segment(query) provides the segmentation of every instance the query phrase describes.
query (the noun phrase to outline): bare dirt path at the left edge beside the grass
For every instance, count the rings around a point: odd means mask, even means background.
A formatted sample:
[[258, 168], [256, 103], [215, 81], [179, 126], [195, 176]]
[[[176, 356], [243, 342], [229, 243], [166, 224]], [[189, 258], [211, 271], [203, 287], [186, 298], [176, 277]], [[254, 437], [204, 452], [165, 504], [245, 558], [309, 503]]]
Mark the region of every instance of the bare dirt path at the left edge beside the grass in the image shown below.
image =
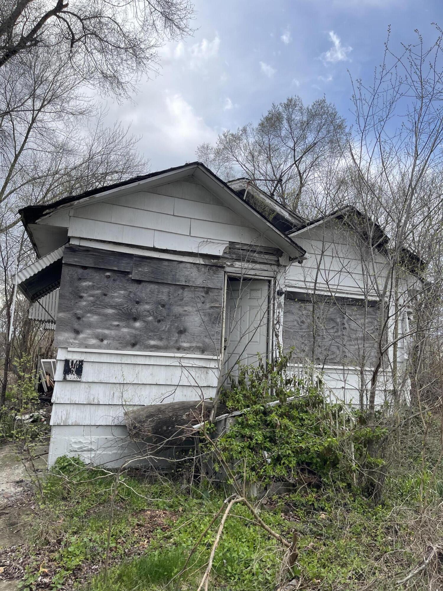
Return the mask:
[[[48, 465], [48, 445], [33, 450], [34, 466], [43, 473]], [[29, 454], [14, 444], [0, 447], [0, 549], [21, 544], [32, 517], [32, 483]], [[17, 582], [2, 580], [6, 564], [0, 562], [0, 591], [15, 591]]]

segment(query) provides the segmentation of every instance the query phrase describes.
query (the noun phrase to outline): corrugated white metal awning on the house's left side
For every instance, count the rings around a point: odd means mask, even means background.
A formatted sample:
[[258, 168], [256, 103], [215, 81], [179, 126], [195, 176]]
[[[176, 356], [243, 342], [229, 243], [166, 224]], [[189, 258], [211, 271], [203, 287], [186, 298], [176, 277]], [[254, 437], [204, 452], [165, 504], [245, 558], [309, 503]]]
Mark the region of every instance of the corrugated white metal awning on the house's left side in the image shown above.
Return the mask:
[[35, 301], [60, 287], [64, 245], [48, 252], [17, 274], [17, 287], [30, 301]]

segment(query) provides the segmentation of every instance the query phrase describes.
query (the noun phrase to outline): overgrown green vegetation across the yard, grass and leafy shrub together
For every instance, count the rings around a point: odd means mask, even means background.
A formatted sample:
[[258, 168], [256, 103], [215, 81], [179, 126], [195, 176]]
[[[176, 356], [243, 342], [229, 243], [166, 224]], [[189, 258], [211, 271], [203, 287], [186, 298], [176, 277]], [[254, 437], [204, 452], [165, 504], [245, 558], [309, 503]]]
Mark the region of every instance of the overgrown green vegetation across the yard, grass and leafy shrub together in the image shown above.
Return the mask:
[[[368, 444], [384, 431], [325, 402], [313, 384], [288, 375], [287, 362], [242, 368], [223, 393], [229, 409], [243, 414], [219, 439], [215, 426], [207, 430], [201, 462], [214, 454], [224, 483], [204, 471], [196, 479], [182, 468], [173, 480], [58, 459], [9, 576], [24, 572], [28, 591], [196, 591], [213, 553], [207, 589], [286, 591], [289, 580], [312, 591], [436, 589], [443, 580], [441, 424], [411, 417], [389, 439], [383, 497], [374, 501], [360, 476]], [[291, 539], [298, 556], [288, 568], [281, 542]]]

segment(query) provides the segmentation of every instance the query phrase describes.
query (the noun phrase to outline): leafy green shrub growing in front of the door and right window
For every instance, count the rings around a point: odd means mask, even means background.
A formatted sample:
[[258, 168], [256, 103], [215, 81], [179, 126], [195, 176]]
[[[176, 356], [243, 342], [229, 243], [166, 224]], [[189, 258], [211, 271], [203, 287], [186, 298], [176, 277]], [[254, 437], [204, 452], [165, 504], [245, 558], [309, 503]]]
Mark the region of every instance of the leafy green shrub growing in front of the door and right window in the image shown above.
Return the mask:
[[231, 379], [220, 398], [230, 411], [243, 413], [214, 440], [219, 459], [247, 482], [262, 483], [292, 481], [301, 472], [350, 483], [361, 457], [380, 466], [367, 450], [385, 430], [368, 427], [357, 411], [325, 402], [321, 387], [288, 373], [290, 358], [242, 366], [238, 379]]

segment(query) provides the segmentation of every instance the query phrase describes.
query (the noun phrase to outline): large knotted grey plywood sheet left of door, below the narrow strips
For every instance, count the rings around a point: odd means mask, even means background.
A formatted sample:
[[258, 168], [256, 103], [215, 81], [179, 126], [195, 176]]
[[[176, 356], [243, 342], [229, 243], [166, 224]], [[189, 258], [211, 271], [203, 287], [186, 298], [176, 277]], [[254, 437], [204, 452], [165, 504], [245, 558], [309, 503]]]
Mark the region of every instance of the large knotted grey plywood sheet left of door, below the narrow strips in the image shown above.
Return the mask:
[[64, 264], [55, 345], [217, 355], [223, 290]]

